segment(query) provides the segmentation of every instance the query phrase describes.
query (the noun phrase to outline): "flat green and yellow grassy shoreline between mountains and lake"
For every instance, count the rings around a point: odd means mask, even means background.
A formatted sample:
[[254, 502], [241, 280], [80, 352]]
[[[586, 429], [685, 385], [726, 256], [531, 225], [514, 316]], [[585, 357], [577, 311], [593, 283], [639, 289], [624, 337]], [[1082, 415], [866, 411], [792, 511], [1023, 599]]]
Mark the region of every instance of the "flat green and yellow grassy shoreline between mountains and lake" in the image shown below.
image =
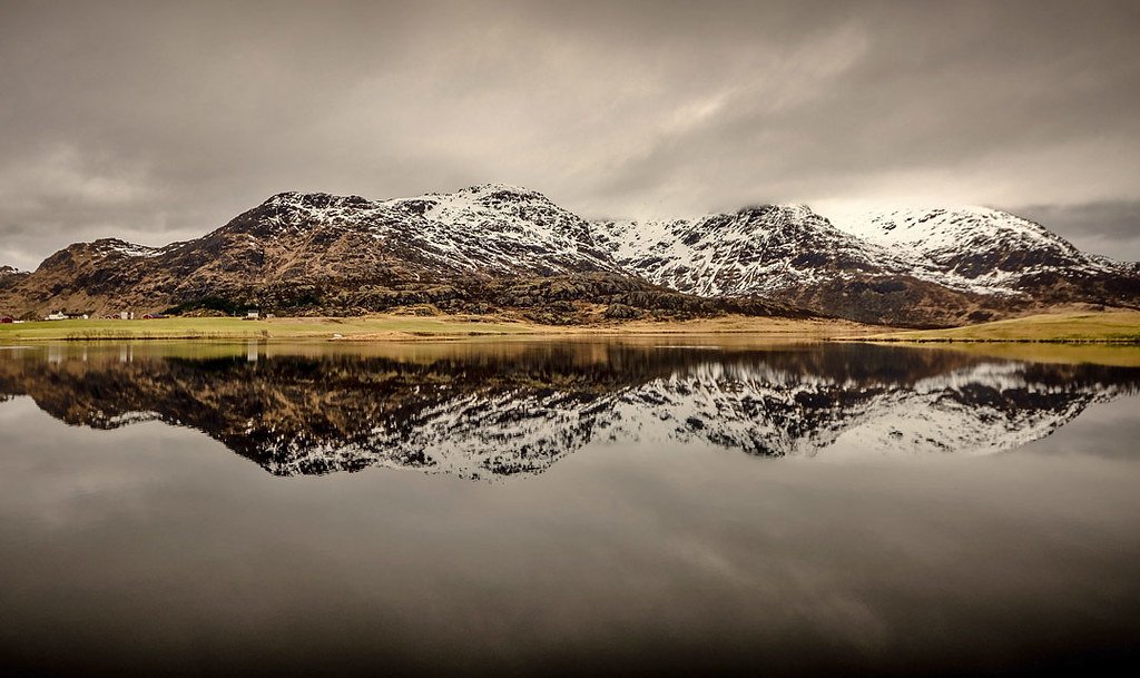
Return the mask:
[[312, 340], [343, 342], [470, 337], [735, 335], [756, 340], [899, 344], [1140, 345], [1140, 311], [1064, 312], [967, 327], [901, 330], [846, 320], [726, 316], [682, 321], [632, 320], [549, 326], [507, 317], [375, 315], [359, 318], [165, 318], [56, 320], [0, 325], [0, 344], [43, 341]]

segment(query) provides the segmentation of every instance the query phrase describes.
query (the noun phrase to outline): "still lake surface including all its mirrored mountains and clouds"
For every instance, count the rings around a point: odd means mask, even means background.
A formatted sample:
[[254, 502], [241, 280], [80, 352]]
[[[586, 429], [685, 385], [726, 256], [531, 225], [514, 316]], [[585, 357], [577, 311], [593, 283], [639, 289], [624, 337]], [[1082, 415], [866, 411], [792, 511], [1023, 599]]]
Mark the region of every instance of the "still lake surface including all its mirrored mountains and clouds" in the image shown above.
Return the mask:
[[1140, 368], [0, 348], [0, 673], [1135, 668]]

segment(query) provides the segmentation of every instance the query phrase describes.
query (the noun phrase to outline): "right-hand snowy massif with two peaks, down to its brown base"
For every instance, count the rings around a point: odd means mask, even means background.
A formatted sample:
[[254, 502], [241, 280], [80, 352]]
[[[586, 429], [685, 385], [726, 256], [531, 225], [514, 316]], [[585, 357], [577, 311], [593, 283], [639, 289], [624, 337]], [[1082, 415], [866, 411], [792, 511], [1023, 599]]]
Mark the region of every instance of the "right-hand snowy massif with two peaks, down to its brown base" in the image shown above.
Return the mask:
[[622, 268], [702, 296], [779, 300], [865, 322], [962, 325], [1050, 305], [1137, 307], [1137, 264], [1088, 255], [984, 207], [831, 220], [764, 205], [694, 220], [595, 221]]

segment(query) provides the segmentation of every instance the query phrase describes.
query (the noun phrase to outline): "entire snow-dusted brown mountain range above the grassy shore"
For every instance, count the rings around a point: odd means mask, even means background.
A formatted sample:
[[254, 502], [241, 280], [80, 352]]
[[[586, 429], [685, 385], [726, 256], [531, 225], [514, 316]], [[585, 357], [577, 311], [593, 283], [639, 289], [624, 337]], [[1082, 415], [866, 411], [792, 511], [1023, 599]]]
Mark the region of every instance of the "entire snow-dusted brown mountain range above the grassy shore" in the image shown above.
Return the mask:
[[1066, 304], [1140, 305], [1140, 266], [985, 207], [830, 220], [763, 205], [587, 221], [488, 183], [369, 201], [283, 193], [197, 239], [71, 245], [0, 269], [0, 312], [508, 311], [551, 324], [722, 313], [961, 325]]

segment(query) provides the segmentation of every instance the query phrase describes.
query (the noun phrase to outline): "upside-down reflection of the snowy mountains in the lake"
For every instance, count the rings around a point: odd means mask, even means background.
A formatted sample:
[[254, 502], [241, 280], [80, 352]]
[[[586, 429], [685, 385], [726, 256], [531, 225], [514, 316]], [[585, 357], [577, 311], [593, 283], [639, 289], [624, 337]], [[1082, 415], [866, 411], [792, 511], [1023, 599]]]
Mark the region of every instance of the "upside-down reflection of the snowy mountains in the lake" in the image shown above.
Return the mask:
[[275, 475], [524, 475], [592, 441], [767, 457], [985, 455], [1138, 385], [1138, 368], [854, 344], [52, 345], [0, 356], [0, 400], [27, 395], [93, 428], [193, 427]]

